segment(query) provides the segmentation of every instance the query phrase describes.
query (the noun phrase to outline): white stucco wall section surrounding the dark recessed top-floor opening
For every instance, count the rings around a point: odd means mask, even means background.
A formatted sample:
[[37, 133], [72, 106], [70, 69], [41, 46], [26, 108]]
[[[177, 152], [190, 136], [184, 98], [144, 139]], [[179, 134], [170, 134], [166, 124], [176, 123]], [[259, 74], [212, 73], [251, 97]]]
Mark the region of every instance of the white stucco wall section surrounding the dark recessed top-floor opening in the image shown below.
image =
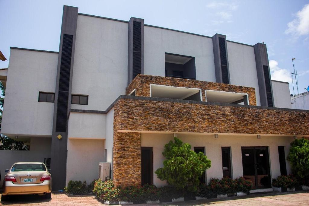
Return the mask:
[[144, 74], [165, 77], [165, 52], [195, 57], [197, 80], [216, 81], [211, 38], [144, 26]]

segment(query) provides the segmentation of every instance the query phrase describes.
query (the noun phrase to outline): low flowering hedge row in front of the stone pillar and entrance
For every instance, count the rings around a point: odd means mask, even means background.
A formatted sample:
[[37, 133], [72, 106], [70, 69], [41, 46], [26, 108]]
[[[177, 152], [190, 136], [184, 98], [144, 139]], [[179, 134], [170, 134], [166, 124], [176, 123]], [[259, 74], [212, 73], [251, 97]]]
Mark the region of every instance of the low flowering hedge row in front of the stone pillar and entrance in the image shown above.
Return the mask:
[[236, 179], [210, 179], [208, 185], [200, 184], [197, 192], [176, 190], [171, 186], [156, 187], [144, 185], [142, 187], [116, 187], [112, 180], [102, 182], [95, 181], [93, 193], [103, 201], [117, 202], [145, 202], [160, 199], [177, 199], [179, 197], [210, 197], [217, 194], [232, 194], [236, 192], [248, 193], [252, 189], [252, 183], [243, 177]]

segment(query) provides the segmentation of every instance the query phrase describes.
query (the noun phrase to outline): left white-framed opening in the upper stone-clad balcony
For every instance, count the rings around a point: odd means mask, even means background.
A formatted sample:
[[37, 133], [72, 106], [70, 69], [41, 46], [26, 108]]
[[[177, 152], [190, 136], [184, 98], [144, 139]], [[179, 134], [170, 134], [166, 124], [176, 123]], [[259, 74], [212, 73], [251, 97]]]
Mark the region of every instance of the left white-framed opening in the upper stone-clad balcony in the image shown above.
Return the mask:
[[202, 101], [201, 89], [155, 84], [150, 85], [150, 97]]

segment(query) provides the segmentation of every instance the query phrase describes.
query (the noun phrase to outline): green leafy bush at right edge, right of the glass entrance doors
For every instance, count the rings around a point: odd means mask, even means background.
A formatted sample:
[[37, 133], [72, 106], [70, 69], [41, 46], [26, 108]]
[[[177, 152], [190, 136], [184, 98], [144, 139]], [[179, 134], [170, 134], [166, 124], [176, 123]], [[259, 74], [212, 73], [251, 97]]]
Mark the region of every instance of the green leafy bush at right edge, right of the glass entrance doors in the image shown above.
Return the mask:
[[309, 178], [309, 140], [296, 139], [291, 143], [287, 160], [290, 161], [293, 174], [300, 178]]

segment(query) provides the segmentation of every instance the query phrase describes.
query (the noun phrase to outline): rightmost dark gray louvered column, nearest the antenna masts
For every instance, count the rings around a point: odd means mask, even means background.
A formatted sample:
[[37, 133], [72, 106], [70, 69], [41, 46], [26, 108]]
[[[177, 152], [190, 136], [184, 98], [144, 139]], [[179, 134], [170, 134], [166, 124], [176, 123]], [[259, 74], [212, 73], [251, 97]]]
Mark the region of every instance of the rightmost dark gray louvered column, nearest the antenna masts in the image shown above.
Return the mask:
[[253, 48], [255, 54], [257, 80], [259, 83], [261, 106], [273, 107], [273, 87], [270, 78], [266, 44], [257, 43], [253, 46]]

